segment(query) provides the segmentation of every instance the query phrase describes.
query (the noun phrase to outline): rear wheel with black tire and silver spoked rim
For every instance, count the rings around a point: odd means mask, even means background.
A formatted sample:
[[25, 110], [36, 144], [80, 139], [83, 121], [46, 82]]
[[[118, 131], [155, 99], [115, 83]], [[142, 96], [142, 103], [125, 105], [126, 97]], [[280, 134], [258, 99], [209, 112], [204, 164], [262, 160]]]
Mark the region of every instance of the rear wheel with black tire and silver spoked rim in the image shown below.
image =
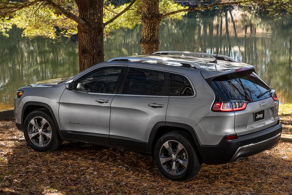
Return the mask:
[[179, 131], [169, 132], [160, 137], [155, 145], [156, 166], [170, 180], [187, 181], [200, 171], [201, 164], [192, 141], [187, 136]]

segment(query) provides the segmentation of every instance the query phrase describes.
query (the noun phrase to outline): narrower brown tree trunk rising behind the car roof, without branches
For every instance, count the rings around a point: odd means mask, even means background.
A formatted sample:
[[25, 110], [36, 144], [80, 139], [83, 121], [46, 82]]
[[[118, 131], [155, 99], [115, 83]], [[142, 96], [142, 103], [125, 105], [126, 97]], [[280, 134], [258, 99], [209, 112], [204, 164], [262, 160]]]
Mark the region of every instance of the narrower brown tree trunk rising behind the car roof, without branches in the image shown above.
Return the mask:
[[159, 50], [159, 0], [142, 1], [142, 38], [140, 45], [143, 55], [152, 54]]

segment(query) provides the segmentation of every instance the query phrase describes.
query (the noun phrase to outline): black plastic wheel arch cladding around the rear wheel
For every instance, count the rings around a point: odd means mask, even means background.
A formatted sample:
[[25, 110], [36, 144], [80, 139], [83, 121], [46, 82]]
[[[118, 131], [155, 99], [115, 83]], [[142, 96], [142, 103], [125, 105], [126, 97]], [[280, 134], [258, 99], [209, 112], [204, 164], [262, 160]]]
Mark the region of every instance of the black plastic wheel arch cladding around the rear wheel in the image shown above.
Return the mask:
[[158, 122], [154, 125], [151, 130], [148, 143], [146, 145], [146, 152], [152, 153], [155, 147], [155, 143], [157, 140], [163, 136], [164, 134], [171, 132], [171, 131], [181, 131], [191, 135], [191, 139], [193, 141], [193, 145], [195, 147], [196, 152], [198, 153], [199, 160], [202, 161], [201, 158], [201, 151], [200, 151], [200, 141], [198, 136], [191, 126], [183, 123], [177, 122]]

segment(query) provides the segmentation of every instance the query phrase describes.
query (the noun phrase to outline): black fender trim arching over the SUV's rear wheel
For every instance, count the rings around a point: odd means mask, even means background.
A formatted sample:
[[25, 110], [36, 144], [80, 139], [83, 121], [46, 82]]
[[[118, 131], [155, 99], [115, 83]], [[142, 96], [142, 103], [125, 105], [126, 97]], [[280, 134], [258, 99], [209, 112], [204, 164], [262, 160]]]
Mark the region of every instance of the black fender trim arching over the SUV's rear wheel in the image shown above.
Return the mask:
[[146, 152], [147, 153], [152, 153], [154, 138], [155, 138], [157, 132], [159, 131], [159, 128], [163, 127], [163, 126], [179, 127], [179, 128], [183, 128], [183, 129], [187, 130], [187, 132], [189, 132], [192, 135], [193, 139], [195, 140], [195, 144], [197, 145], [198, 150], [200, 150], [200, 148], [201, 148], [200, 141], [198, 139], [198, 136], [197, 136], [194, 128], [192, 128], [191, 126], [189, 126], [187, 124], [178, 123], [178, 122], [158, 122], [154, 125], [154, 127], [152, 128], [151, 133], [149, 135], [148, 143], [146, 145]]

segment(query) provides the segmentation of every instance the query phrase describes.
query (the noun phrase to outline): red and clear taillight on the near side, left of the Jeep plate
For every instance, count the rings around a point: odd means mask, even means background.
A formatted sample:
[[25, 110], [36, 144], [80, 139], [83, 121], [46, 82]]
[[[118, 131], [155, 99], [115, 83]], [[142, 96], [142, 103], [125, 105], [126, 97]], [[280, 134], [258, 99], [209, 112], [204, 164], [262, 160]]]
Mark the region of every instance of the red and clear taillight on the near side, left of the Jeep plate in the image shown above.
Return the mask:
[[214, 112], [232, 112], [240, 111], [246, 108], [246, 101], [216, 101], [213, 104], [212, 111]]

